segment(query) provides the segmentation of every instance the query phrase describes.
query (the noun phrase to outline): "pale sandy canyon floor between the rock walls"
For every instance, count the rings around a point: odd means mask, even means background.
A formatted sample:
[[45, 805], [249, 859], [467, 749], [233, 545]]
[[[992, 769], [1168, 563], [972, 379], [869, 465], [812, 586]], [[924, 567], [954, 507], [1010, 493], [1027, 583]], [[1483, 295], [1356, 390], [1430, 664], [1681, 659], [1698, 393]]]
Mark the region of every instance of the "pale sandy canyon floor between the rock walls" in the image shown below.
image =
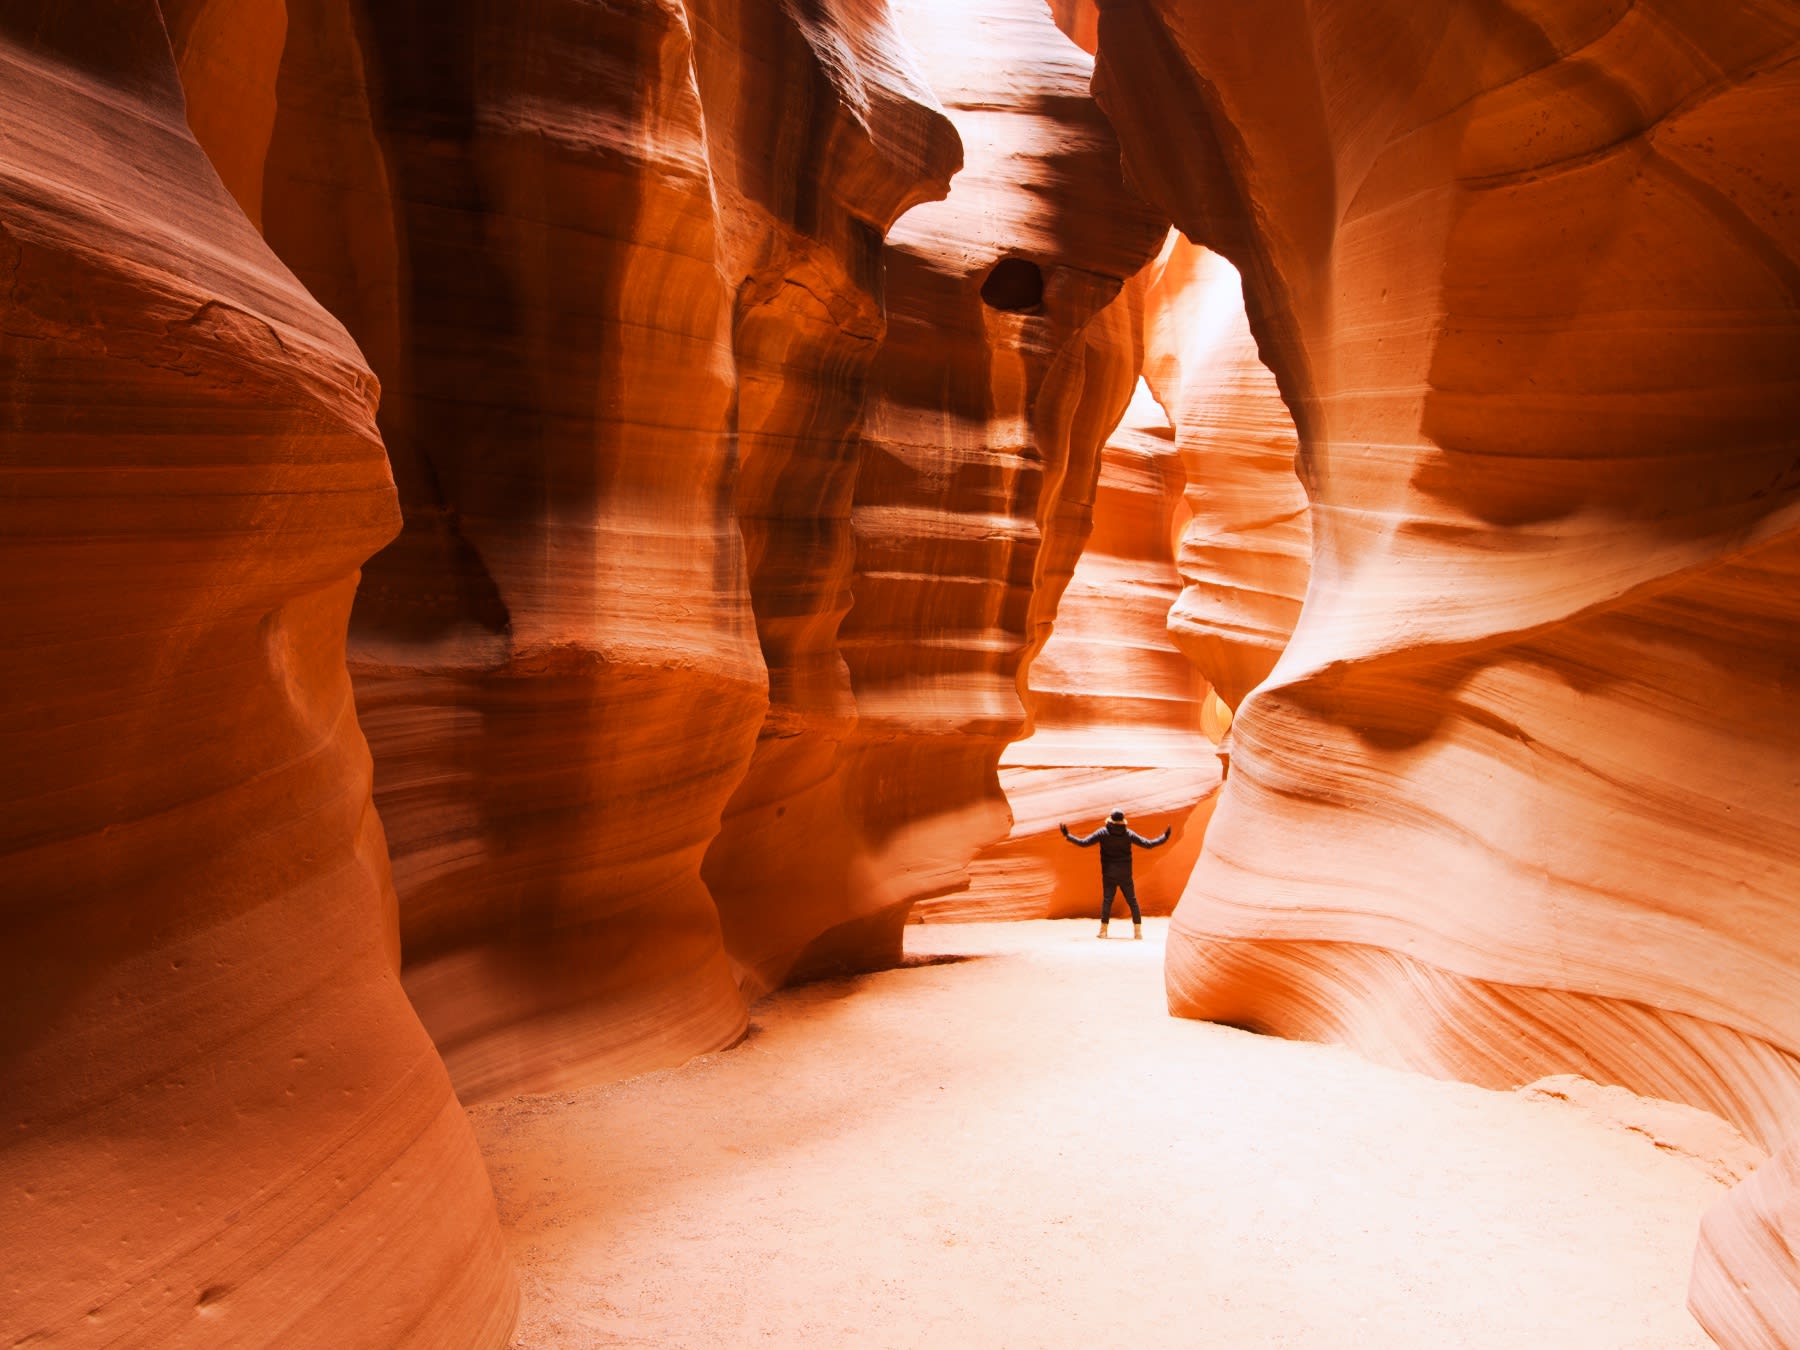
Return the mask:
[[1710, 1345], [1710, 1118], [1170, 1019], [1165, 931], [913, 927], [734, 1049], [475, 1109], [515, 1345]]

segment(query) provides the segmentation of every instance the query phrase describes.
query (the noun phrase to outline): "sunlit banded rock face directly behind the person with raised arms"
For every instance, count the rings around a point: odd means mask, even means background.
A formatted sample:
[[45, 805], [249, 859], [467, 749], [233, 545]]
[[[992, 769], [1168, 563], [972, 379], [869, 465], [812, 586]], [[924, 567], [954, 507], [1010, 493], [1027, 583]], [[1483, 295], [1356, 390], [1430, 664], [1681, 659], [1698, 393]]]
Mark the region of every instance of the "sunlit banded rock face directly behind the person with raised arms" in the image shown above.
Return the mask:
[[1031, 734], [1001, 754], [1012, 832], [976, 857], [968, 891], [920, 904], [918, 920], [1096, 913], [1098, 855], [1057, 826], [1087, 833], [1114, 808], [1139, 833], [1175, 832], [1134, 864], [1143, 911], [1175, 907], [1219, 788], [1201, 734], [1208, 686], [1168, 635], [1186, 486], [1168, 416], [1139, 382], [1100, 457], [1093, 533], [1030, 666]]

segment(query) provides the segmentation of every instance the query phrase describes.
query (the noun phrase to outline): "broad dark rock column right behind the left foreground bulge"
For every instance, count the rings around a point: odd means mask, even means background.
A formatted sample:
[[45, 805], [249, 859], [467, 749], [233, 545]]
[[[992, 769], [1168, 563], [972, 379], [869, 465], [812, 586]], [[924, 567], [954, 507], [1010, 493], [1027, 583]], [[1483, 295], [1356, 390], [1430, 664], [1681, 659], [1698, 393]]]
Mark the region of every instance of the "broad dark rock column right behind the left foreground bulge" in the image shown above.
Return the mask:
[[405, 517], [349, 666], [407, 992], [466, 1100], [724, 1046], [700, 859], [767, 677], [688, 14], [288, 11], [266, 232], [383, 380]]

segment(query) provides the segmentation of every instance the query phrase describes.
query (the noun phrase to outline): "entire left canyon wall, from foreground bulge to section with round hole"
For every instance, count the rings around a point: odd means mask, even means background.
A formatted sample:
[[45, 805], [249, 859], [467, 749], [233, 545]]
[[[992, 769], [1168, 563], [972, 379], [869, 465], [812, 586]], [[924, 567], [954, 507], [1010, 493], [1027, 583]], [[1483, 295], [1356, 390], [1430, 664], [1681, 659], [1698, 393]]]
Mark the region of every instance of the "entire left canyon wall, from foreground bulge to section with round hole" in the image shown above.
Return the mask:
[[[20, 1267], [25, 1332], [504, 1337], [443, 1064], [668, 1064], [896, 954], [1003, 810], [1166, 225], [1031, 4], [914, 9], [961, 23], [923, 67], [848, 2], [0, 18], [38, 130], [0, 157], [7, 1168], [94, 1213]], [[934, 85], [983, 169], [889, 259], [958, 167]], [[1015, 256], [1042, 295], [983, 299]], [[124, 1256], [101, 1138], [166, 1163]]]

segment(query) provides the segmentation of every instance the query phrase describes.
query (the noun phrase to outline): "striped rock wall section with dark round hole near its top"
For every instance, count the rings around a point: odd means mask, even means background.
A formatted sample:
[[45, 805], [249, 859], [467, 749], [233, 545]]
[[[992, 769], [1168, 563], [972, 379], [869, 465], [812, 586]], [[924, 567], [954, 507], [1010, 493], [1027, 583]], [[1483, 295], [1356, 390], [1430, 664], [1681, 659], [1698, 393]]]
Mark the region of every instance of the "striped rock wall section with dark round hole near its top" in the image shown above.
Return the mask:
[[814, 952], [839, 963], [898, 956], [907, 907], [961, 889], [976, 848], [1006, 833], [995, 763], [1024, 731], [1022, 670], [1138, 378], [1125, 281], [1166, 232], [1120, 182], [1091, 61], [1040, 0], [896, 14], [967, 166], [889, 236], [841, 637], [857, 704], [841, 778], [862, 841], [842, 895], [862, 918]]

